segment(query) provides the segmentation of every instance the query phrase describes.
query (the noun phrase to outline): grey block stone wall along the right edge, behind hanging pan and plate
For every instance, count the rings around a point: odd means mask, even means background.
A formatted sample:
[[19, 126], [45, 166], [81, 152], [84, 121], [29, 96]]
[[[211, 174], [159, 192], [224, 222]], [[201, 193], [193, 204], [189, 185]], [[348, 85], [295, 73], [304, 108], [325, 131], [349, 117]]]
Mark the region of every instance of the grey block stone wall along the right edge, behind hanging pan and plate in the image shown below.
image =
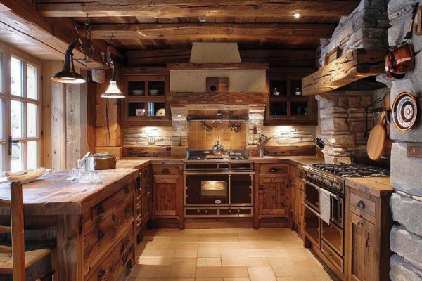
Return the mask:
[[[392, 25], [388, 30], [390, 46], [402, 41], [409, 26], [411, 5], [415, 2], [390, 0], [388, 4], [388, 15]], [[421, 50], [422, 37], [414, 34], [412, 43], [415, 51]], [[408, 72], [404, 79], [385, 83], [391, 87], [391, 104], [402, 91], [409, 91], [416, 98], [421, 98], [421, 58], [421, 53], [418, 53], [414, 71]], [[421, 115], [414, 129], [407, 132], [397, 130], [394, 125], [391, 126], [390, 138], [395, 141], [392, 144], [391, 184], [396, 190], [390, 201], [395, 221], [390, 235], [391, 249], [396, 253], [390, 260], [390, 278], [393, 281], [422, 280], [422, 159], [407, 157], [407, 143], [422, 142], [420, 120]]]

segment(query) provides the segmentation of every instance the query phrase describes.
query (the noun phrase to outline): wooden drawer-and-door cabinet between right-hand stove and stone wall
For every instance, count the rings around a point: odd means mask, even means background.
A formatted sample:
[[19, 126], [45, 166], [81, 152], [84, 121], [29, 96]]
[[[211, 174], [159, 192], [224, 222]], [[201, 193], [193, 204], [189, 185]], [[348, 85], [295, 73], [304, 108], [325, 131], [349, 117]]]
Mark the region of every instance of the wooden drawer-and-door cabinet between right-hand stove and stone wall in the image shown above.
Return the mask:
[[[374, 181], [359, 178], [350, 181]], [[378, 179], [375, 181], [382, 181]], [[347, 184], [348, 185], [348, 184]], [[345, 226], [347, 277], [350, 281], [390, 280], [390, 195], [392, 188], [376, 183], [347, 186], [347, 224]]]

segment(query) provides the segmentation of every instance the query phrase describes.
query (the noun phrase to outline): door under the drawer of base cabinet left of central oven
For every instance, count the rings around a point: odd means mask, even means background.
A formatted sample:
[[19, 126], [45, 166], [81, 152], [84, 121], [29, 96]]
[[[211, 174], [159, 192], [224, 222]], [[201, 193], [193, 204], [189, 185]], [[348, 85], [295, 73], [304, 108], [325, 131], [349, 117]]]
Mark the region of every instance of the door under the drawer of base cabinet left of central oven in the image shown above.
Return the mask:
[[154, 178], [154, 216], [176, 216], [179, 178]]

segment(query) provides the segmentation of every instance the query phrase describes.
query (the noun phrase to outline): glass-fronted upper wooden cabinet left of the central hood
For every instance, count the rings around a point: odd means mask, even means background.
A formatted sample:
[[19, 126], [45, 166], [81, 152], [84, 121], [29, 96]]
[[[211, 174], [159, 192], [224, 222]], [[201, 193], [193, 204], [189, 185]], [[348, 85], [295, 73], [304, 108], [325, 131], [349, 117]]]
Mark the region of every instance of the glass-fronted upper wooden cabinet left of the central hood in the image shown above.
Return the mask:
[[167, 75], [124, 75], [122, 120], [127, 124], [169, 123]]

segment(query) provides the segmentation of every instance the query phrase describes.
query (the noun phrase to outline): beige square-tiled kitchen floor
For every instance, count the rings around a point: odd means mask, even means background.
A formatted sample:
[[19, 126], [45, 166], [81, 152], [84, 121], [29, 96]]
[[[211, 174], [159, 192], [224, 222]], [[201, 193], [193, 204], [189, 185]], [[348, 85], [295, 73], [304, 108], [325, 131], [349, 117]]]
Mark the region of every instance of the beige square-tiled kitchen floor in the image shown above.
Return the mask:
[[287, 228], [149, 230], [130, 281], [326, 281]]

